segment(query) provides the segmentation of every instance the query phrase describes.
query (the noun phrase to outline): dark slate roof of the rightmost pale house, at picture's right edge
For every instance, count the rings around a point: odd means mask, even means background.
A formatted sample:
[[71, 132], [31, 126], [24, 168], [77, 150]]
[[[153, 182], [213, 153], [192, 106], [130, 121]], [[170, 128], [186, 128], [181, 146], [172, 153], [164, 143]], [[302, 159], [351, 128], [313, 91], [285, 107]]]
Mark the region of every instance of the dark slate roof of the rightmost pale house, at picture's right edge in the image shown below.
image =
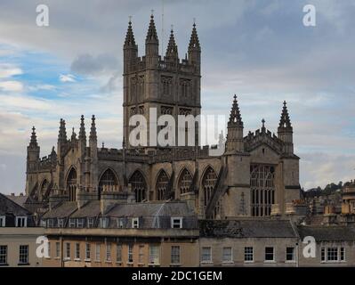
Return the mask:
[[300, 225], [297, 227], [301, 239], [311, 236], [316, 241], [347, 241], [355, 240], [355, 227], [340, 225]]

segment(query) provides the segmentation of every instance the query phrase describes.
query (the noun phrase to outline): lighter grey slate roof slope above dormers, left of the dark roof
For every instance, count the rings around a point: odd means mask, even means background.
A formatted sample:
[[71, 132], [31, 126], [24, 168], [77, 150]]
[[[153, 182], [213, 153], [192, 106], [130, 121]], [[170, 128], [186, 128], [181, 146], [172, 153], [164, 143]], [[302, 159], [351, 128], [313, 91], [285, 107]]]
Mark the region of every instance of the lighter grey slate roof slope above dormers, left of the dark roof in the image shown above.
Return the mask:
[[105, 216], [193, 216], [184, 202], [117, 204]]

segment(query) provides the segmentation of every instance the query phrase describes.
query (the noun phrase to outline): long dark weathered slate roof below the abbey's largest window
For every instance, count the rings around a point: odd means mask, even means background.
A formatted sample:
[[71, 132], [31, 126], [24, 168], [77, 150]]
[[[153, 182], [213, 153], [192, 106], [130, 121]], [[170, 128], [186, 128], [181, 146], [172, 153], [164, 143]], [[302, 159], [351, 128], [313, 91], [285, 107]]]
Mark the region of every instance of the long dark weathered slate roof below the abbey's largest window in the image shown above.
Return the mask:
[[286, 220], [206, 220], [199, 223], [205, 238], [297, 238]]

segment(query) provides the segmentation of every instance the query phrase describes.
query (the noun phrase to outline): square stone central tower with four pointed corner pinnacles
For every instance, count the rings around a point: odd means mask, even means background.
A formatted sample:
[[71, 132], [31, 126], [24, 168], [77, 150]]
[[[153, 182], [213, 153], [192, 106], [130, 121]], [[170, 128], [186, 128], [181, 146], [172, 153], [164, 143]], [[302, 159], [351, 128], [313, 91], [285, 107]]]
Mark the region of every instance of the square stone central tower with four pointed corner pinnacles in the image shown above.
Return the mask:
[[[138, 56], [138, 45], [134, 40], [132, 22], [129, 21], [124, 45], [123, 103], [124, 142], [127, 148], [132, 148], [129, 134], [134, 126], [129, 126], [129, 119], [134, 114], [141, 114], [146, 118], [147, 144], [153, 147], [159, 145], [154, 142], [155, 137], [149, 137], [149, 129], [157, 126], [157, 122], [149, 118], [151, 108], [156, 108], [157, 118], [160, 115], [172, 115], [176, 123], [178, 115], [191, 114], [196, 117], [200, 114], [201, 48], [196, 25], [193, 25], [188, 53], [184, 59], [179, 59], [173, 29], [165, 56], [158, 54], [158, 47], [153, 15], [150, 16], [145, 55], [142, 57]], [[161, 128], [164, 126], [157, 126], [157, 133]], [[177, 132], [175, 127], [175, 137]]]

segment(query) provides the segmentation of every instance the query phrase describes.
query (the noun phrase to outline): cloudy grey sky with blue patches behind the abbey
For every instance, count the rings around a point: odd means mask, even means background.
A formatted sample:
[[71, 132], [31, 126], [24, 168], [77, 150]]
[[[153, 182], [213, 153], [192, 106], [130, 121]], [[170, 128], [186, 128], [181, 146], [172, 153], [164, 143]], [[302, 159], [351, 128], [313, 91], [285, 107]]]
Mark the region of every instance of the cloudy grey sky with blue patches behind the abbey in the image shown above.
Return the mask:
[[[49, 7], [49, 27], [36, 26], [37, 4]], [[303, 26], [305, 4], [316, 7], [316, 27]], [[173, 25], [180, 57], [196, 19], [205, 113], [228, 114], [238, 94], [245, 132], [262, 118], [276, 132], [286, 100], [302, 186], [355, 178], [354, 1], [1, 0], [1, 192], [24, 191], [33, 125], [41, 156], [60, 118], [77, 128], [81, 114], [96, 115], [100, 143], [121, 146], [128, 16], [142, 55], [151, 10], [164, 51]]]

